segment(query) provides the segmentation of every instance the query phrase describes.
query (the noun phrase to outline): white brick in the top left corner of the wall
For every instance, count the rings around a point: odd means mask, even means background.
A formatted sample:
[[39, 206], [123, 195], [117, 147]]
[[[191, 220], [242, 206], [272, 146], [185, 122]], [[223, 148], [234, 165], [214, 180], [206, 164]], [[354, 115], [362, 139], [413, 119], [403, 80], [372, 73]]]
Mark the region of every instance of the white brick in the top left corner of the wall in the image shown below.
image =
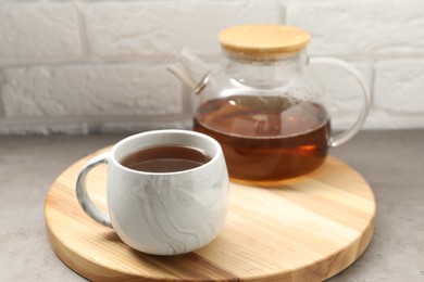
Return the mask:
[[0, 59], [80, 54], [73, 3], [0, 3]]

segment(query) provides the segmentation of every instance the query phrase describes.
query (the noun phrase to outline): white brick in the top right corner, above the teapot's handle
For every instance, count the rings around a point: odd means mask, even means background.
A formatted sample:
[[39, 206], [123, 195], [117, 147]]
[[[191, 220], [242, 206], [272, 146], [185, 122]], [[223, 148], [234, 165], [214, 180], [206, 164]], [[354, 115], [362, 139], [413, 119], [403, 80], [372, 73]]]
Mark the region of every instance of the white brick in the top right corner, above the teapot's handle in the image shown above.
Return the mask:
[[315, 1], [288, 5], [288, 24], [309, 30], [313, 54], [423, 52], [424, 2]]

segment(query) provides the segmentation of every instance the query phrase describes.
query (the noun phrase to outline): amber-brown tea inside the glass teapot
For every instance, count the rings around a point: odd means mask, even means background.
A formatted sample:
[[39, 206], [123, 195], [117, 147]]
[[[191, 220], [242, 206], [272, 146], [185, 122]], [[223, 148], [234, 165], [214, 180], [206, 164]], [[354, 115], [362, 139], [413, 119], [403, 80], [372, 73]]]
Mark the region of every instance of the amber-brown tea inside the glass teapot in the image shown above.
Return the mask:
[[[273, 111], [264, 111], [269, 104]], [[196, 112], [194, 128], [220, 141], [235, 179], [272, 181], [307, 174], [328, 151], [329, 119], [321, 105], [305, 101], [249, 95], [212, 100]]]

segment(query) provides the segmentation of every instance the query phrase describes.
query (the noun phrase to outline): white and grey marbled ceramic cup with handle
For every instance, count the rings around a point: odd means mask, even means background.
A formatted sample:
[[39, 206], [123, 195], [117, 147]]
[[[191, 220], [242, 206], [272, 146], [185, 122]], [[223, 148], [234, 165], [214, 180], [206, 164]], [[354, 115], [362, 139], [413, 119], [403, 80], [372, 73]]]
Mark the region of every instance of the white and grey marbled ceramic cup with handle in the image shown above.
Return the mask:
[[[144, 148], [191, 146], [211, 157], [208, 163], [175, 172], [146, 172], [120, 164]], [[86, 189], [87, 174], [108, 164], [108, 209], [98, 209]], [[130, 247], [154, 255], [176, 255], [210, 243], [224, 226], [229, 181], [222, 149], [214, 139], [188, 130], [154, 130], [116, 143], [91, 158], [79, 172], [76, 196], [88, 216], [111, 227]]]

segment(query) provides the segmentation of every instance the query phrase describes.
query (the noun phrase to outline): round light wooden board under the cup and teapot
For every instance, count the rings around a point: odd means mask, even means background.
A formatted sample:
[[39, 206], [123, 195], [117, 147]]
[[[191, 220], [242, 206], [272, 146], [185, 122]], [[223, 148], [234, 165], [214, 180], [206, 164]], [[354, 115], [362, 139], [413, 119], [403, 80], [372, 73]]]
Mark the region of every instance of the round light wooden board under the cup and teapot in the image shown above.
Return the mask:
[[[101, 281], [322, 281], [352, 264], [374, 230], [375, 200], [352, 168], [328, 157], [308, 177], [277, 188], [230, 184], [222, 233], [186, 255], [153, 256], [126, 246], [79, 207], [75, 182], [93, 155], [70, 166], [47, 194], [50, 244], [71, 269]], [[105, 209], [105, 165], [89, 174], [95, 203]]]

